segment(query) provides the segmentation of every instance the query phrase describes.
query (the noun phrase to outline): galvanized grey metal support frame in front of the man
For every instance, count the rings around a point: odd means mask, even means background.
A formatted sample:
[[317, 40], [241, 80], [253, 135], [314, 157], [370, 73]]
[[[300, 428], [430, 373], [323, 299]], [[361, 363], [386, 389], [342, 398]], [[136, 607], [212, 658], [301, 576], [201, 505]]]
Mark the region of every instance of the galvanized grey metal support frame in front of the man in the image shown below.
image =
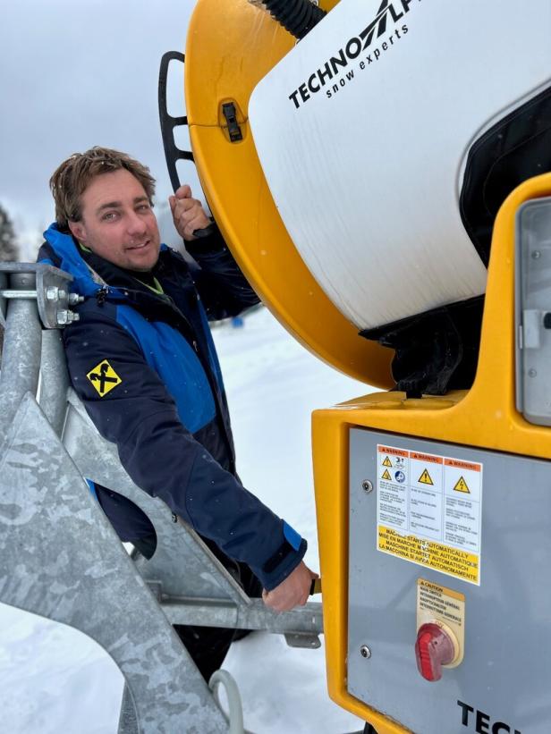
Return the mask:
[[[263, 629], [318, 647], [321, 604], [270, 612], [132, 483], [69, 386], [60, 329], [78, 317], [71, 280], [52, 266], [0, 263], [0, 602], [106, 650], [125, 679], [119, 734], [228, 731], [172, 624]], [[149, 561], [128, 555], [84, 477], [148, 515]]]

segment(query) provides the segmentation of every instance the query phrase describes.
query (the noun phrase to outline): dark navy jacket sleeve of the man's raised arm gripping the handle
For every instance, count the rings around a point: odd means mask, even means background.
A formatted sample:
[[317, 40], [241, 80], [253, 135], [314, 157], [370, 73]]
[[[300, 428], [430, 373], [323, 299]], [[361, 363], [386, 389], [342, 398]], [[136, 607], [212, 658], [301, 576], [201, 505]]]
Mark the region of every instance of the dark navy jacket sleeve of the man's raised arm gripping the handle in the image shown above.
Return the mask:
[[201, 302], [209, 321], [238, 316], [245, 308], [256, 306], [259, 297], [242, 274], [216, 224], [209, 237], [185, 242], [198, 266], [191, 267]]

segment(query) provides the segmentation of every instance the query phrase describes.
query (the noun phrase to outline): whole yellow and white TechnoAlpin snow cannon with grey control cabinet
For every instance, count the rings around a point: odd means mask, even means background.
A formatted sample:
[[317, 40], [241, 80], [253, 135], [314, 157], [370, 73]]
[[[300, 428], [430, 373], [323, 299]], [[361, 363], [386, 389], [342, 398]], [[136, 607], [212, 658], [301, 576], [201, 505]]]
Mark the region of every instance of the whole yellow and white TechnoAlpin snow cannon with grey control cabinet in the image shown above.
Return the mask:
[[307, 349], [329, 695], [375, 734], [551, 730], [551, 4], [199, 0], [192, 153]]

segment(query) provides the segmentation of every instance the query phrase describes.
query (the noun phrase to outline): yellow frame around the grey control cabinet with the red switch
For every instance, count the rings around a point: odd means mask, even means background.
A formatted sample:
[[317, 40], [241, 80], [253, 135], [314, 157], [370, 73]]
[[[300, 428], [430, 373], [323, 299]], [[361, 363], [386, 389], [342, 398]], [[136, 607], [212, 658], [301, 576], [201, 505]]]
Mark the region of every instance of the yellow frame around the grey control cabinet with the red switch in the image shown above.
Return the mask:
[[372, 723], [378, 734], [397, 734], [404, 729], [360, 703], [346, 689], [349, 431], [360, 426], [521, 456], [551, 457], [551, 431], [528, 423], [515, 409], [513, 328], [515, 215], [523, 202], [548, 196], [551, 174], [530, 179], [513, 191], [497, 216], [479, 367], [470, 391], [420, 400], [406, 400], [399, 392], [378, 392], [313, 415], [329, 694], [343, 708]]

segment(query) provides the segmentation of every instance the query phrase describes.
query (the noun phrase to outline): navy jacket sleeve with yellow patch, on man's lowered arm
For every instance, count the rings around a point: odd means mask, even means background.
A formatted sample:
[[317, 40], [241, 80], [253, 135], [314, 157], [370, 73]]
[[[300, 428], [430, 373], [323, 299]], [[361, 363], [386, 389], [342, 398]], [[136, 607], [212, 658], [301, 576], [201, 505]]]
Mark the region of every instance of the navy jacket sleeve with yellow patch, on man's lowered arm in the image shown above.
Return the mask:
[[[79, 310], [81, 320], [64, 330], [72, 385], [99, 433], [116, 443], [132, 481], [231, 558], [246, 562], [267, 590], [278, 586], [301, 561], [306, 541], [182, 425], [131, 334], [100, 309], [85, 303]], [[112, 382], [102, 388], [97, 375], [105, 362]]]

